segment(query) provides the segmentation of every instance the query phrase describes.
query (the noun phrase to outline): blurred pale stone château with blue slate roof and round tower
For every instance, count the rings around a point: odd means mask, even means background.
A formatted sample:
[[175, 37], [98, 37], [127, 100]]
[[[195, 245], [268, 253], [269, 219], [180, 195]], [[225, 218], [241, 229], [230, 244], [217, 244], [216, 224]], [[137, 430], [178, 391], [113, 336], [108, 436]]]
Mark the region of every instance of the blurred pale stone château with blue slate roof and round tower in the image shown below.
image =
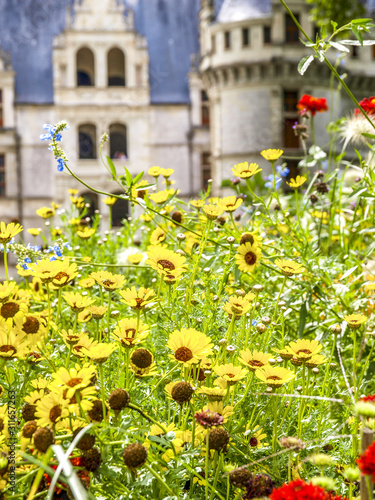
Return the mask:
[[[311, 6], [288, 5], [315, 38]], [[68, 121], [62, 145], [89, 185], [120, 192], [99, 159], [107, 132], [103, 154], [118, 172], [173, 168], [192, 196], [210, 178], [219, 192], [235, 163], [262, 163], [264, 148], [300, 153], [299, 98], [330, 98], [325, 65], [298, 74], [309, 52], [278, 0], [0, 0], [0, 9], [0, 218], [26, 227], [40, 225], [37, 208], [67, 204], [74, 187], [108, 215], [100, 197], [57, 172], [39, 139], [44, 123]], [[374, 94], [373, 46], [352, 47], [340, 71], [359, 99]], [[337, 110], [351, 108], [338, 99]], [[322, 143], [330, 118], [317, 117]], [[115, 225], [127, 209], [116, 203]]]

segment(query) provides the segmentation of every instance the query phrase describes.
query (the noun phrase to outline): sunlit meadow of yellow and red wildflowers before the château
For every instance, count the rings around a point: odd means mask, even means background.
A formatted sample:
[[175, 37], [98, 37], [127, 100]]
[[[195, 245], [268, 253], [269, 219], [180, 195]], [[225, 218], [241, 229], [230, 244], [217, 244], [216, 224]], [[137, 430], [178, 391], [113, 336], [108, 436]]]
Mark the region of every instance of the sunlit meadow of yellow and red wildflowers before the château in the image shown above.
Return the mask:
[[[124, 194], [92, 189], [129, 200], [121, 228], [102, 234], [74, 189], [37, 211], [33, 246], [1, 222], [1, 498], [372, 497], [375, 97], [325, 153], [329, 105], [298, 104], [295, 175], [268, 149], [271, 175], [239, 163], [231, 195], [184, 200], [172, 168], [144, 180], [107, 158]], [[80, 180], [67, 124], [44, 128]]]

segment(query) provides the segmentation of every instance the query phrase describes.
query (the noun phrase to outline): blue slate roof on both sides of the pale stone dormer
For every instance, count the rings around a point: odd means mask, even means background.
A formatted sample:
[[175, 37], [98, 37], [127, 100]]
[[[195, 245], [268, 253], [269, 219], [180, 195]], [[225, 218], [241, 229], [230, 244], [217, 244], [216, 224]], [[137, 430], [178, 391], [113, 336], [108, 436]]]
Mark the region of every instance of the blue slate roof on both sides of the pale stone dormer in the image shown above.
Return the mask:
[[[18, 102], [51, 103], [52, 40], [72, 0], [0, 0], [0, 47], [11, 52]], [[199, 52], [200, 0], [124, 0], [148, 40], [153, 103], [189, 101], [190, 55]]]

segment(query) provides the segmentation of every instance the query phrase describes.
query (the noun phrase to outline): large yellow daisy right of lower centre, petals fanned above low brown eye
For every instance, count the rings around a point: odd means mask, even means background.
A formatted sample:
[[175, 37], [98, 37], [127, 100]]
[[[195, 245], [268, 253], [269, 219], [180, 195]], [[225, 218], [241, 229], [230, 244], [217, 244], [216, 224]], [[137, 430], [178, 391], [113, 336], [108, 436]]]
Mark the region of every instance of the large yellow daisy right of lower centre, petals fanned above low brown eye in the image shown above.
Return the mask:
[[181, 328], [170, 335], [167, 347], [173, 351], [173, 354], [169, 355], [173, 361], [178, 361], [189, 367], [191, 364], [199, 363], [201, 359], [211, 356], [213, 345], [210, 337], [204, 333], [198, 332], [194, 328]]

